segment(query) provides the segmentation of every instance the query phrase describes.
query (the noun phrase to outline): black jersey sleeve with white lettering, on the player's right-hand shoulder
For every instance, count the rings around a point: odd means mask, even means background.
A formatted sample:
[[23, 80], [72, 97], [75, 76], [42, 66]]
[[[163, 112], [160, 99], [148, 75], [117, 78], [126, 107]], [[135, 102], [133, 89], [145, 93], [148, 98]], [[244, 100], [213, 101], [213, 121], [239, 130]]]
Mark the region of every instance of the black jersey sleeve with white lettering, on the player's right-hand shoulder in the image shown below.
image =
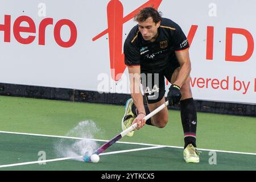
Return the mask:
[[174, 41], [174, 51], [181, 52], [189, 48], [188, 39], [184, 32], [181, 30], [180, 26], [176, 27], [175, 34], [173, 36]]

